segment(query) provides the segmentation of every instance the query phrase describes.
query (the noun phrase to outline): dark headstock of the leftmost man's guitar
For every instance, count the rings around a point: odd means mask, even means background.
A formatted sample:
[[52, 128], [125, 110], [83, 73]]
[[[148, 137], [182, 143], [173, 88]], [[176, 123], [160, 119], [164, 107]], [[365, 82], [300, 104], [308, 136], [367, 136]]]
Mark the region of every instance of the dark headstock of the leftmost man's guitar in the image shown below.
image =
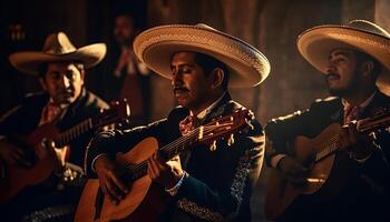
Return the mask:
[[94, 127], [105, 127], [108, 124], [127, 121], [130, 117], [130, 107], [126, 99], [111, 103], [109, 110], [103, 111], [98, 117], [94, 118]]

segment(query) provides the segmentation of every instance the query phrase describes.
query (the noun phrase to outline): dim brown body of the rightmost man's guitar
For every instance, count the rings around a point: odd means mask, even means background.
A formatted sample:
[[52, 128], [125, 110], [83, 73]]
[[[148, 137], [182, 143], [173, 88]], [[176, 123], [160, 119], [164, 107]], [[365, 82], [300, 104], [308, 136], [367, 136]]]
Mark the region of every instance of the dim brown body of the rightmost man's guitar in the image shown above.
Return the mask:
[[321, 144], [340, 132], [340, 124], [333, 123], [313, 139], [305, 137], [295, 139], [295, 159], [311, 169], [305, 185], [293, 186], [280, 171], [272, 169], [265, 201], [265, 214], [269, 220], [283, 214], [299, 195], [312, 195], [315, 201], [325, 201], [337, 195], [347, 180], [344, 175], [348, 171], [345, 161], [339, 161], [339, 153], [329, 154], [311, 165], [308, 163], [312, 162], [313, 153], [324, 149]]

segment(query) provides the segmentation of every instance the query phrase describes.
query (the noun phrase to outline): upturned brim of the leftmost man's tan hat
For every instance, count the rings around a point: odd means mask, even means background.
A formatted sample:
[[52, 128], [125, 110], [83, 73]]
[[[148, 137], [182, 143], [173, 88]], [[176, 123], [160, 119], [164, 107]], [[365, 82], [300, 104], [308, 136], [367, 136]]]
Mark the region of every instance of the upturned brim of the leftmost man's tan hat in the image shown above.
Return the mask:
[[106, 44], [95, 43], [65, 54], [51, 54], [40, 51], [25, 51], [10, 54], [11, 64], [27, 74], [38, 75], [38, 67], [46, 62], [79, 61], [86, 69], [98, 64], [106, 56]]

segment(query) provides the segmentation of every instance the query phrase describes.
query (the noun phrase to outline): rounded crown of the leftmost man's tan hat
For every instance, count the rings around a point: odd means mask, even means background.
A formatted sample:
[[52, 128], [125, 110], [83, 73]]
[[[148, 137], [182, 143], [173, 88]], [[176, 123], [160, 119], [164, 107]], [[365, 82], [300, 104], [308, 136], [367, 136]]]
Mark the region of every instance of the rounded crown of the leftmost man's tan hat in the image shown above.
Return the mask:
[[42, 51], [49, 54], [67, 54], [75, 52], [76, 48], [64, 32], [56, 32], [46, 38]]

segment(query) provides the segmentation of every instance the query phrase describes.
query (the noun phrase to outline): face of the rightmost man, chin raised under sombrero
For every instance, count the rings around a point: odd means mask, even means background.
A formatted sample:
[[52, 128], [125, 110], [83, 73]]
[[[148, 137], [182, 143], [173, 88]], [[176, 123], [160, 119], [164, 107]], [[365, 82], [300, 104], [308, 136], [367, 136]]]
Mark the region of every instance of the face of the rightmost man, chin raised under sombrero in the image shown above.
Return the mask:
[[326, 69], [329, 92], [343, 97], [359, 88], [360, 73], [354, 52], [349, 49], [334, 49], [329, 54]]

